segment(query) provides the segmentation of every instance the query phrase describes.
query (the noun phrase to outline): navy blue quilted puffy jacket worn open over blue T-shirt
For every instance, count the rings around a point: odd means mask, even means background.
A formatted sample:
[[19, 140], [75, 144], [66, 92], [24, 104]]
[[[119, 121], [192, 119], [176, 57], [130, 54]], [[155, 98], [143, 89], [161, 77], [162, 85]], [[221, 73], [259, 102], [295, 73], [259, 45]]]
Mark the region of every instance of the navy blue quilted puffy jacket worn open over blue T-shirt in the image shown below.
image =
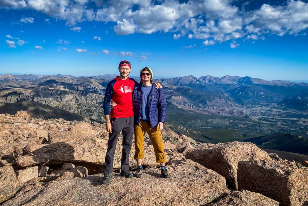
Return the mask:
[[[142, 104], [142, 83], [137, 84], [133, 90], [133, 110], [134, 110], [134, 124], [139, 125], [140, 112]], [[153, 84], [149, 93], [149, 116], [151, 128], [154, 128], [158, 122], [165, 124], [167, 102], [163, 89], [156, 89]]]

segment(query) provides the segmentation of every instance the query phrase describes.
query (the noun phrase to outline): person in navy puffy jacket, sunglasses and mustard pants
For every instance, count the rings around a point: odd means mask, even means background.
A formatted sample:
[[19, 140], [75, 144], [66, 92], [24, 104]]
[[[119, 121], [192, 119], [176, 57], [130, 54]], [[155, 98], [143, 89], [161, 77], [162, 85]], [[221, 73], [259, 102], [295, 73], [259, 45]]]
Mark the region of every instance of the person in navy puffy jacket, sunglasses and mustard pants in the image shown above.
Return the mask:
[[133, 90], [133, 110], [134, 110], [134, 132], [135, 132], [135, 159], [137, 161], [137, 171], [135, 177], [142, 175], [142, 159], [144, 132], [147, 131], [156, 156], [156, 162], [160, 163], [161, 175], [170, 178], [168, 170], [165, 168], [165, 153], [161, 130], [164, 127], [167, 103], [162, 89], [152, 86], [153, 72], [145, 67], [140, 70], [140, 84]]

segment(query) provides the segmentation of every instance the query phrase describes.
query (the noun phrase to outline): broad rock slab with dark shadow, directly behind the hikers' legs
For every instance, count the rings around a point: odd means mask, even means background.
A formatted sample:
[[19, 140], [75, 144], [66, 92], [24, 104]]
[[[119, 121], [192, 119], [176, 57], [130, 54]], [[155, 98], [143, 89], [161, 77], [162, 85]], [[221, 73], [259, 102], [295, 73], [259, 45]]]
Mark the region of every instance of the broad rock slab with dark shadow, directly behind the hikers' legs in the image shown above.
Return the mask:
[[[76, 124], [77, 125], [77, 124]], [[87, 126], [86, 126], [87, 125]], [[84, 130], [80, 132], [78, 127]], [[83, 134], [87, 135], [83, 136]], [[63, 162], [83, 162], [83, 165], [104, 165], [107, 151], [108, 139], [97, 137], [96, 132], [90, 124], [84, 123], [69, 128], [67, 131], [50, 133], [49, 145], [45, 145], [14, 160], [14, 165], [18, 168], [25, 168], [36, 165], [61, 164]], [[129, 156], [131, 166], [136, 165], [134, 159], [135, 142], [132, 142], [132, 149]], [[122, 137], [119, 138], [115, 150], [114, 167], [119, 168], [122, 156]], [[144, 165], [158, 165], [155, 158], [154, 149], [148, 146], [144, 147]], [[166, 159], [168, 155], [166, 154]]]

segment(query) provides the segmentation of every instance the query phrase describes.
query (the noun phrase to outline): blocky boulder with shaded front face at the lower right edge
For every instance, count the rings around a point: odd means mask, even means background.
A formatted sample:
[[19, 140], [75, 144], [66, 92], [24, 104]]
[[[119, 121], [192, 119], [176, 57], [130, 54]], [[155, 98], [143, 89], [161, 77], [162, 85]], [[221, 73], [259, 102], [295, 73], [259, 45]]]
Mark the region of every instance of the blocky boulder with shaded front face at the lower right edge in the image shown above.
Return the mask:
[[238, 188], [258, 192], [280, 205], [308, 205], [308, 171], [284, 162], [238, 163]]

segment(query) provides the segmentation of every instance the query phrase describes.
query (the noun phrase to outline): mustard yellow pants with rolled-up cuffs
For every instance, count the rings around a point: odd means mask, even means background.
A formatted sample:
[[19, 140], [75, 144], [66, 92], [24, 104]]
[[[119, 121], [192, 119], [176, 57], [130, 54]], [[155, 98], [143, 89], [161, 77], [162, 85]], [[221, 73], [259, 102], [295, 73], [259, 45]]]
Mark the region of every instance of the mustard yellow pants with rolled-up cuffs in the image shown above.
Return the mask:
[[149, 122], [144, 122], [140, 120], [138, 127], [137, 125], [134, 125], [134, 131], [135, 131], [135, 146], [136, 146], [135, 159], [144, 158], [143, 154], [144, 132], [147, 131], [154, 147], [156, 162], [158, 163], [166, 162], [163, 136], [161, 132], [158, 131], [158, 127], [154, 127], [151, 129], [151, 125]]

